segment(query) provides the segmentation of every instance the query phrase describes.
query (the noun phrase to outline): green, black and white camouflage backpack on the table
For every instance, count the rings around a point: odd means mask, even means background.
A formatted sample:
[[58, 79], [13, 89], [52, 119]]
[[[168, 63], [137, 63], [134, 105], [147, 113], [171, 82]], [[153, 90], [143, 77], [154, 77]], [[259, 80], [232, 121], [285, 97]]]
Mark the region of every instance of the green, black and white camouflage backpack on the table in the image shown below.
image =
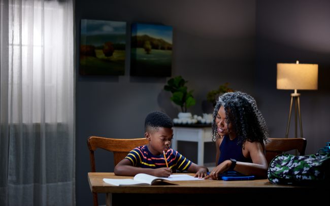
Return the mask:
[[330, 179], [330, 153], [295, 156], [277, 155], [268, 168], [268, 180], [273, 184], [317, 184]]

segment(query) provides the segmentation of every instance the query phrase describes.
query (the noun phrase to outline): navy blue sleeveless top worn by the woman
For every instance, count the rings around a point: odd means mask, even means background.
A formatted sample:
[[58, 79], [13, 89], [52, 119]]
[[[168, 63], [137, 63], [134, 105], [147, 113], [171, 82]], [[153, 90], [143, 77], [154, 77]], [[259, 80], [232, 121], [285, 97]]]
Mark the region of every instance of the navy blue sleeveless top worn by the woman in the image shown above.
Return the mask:
[[227, 159], [236, 159], [239, 162], [252, 162], [251, 158], [246, 158], [242, 152], [243, 142], [237, 144], [239, 138], [235, 138], [234, 140], [230, 140], [229, 136], [223, 136], [223, 140], [220, 149], [220, 157], [218, 161], [218, 165]]

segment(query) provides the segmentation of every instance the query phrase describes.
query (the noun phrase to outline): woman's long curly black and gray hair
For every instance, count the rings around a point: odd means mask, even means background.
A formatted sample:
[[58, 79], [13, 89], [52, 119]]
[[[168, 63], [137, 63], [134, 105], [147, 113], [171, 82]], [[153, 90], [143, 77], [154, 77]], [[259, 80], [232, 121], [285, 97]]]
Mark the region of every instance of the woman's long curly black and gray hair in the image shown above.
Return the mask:
[[239, 138], [238, 143], [267, 142], [268, 127], [252, 96], [241, 91], [227, 92], [219, 96], [213, 112], [212, 140], [220, 138], [215, 119], [220, 107], [224, 107], [226, 123], [232, 123], [232, 132]]

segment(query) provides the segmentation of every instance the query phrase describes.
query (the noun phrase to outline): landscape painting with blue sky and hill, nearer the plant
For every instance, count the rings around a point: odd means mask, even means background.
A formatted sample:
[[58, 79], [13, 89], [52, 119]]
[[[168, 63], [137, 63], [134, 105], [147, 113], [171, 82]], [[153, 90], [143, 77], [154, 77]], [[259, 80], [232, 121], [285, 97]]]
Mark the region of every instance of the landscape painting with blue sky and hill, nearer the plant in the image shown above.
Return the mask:
[[172, 26], [132, 24], [130, 75], [170, 77], [172, 38]]

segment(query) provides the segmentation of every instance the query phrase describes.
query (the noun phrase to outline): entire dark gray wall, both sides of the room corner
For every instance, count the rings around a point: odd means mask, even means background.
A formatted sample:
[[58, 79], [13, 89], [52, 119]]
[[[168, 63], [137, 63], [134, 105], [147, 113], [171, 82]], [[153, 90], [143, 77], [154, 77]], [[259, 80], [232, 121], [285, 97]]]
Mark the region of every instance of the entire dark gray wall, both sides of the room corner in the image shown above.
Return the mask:
[[[173, 26], [172, 76], [182, 75], [189, 81], [188, 88], [194, 90], [197, 104], [190, 112], [209, 112], [202, 107], [206, 93], [229, 82], [234, 89], [255, 96], [274, 138], [284, 138], [292, 92], [276, 89], [276, 63], [317, 63], [318, 90], [299, 91], [304, 137], [308, 141], [306, 153], [311, 154], [330, 142], [329, 11], [327, 0], [77, 1], [77, 51], [81, 19], [125, 21], [128, 25], [124, 76], [80, 76], [77, 53], [77, 205], [92, 204], [86, 175], [90, 170], [86, 145], [89, 135], [142, 137], [148, 112], [162, 110], [172, 118], [179, 112], [170, 94], [162, 90], [169, 78], [129, 76], [130, 23]], [[209, 153], [213, 149], [207, 146]], [[112, 156], [98, 152], [101, 159], [96, 162], [97, 170], [113, 171]], [[214, 157], [208, 158], [212, 161]], [[104, 198], [100, 196], [100, 203]]]

